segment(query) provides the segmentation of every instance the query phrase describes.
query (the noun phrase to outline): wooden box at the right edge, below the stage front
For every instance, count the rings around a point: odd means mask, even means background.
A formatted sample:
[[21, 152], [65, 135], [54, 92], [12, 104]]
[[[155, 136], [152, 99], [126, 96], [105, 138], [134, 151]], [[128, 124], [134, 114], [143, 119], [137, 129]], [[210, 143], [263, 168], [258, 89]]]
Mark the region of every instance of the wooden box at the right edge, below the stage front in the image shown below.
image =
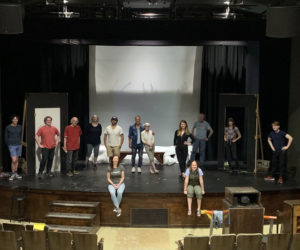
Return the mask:
[[283, 233], [300, 233], [300, 200], [284, 201], [280, 220]]

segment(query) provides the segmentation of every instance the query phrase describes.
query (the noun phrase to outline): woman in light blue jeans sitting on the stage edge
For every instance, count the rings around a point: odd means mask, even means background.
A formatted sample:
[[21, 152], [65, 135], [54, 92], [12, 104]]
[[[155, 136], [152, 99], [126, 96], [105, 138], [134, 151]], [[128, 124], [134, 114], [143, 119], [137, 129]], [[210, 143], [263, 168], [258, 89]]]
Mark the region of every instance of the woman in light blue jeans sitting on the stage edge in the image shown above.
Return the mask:
[[110, 192], [112, 202], [115, 206], [114, 212], [117, 214], [117, 217], [121, 216], [120, 203], [122, 201], [122, 194], [125, 189], [124, 179], [124, 167], [119, 165], [119, 156], [114, 156], [110, 166], [107, 168], [107, 181], [108, 191]]

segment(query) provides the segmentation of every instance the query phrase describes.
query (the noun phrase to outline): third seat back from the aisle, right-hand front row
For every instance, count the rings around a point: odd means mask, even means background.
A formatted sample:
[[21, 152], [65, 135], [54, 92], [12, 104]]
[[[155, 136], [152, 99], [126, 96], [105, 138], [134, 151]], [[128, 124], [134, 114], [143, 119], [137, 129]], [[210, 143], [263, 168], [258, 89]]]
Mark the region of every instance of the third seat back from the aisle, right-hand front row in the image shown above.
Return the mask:
[[237, 250], [261, 250], [262, 234], [238, 234]]

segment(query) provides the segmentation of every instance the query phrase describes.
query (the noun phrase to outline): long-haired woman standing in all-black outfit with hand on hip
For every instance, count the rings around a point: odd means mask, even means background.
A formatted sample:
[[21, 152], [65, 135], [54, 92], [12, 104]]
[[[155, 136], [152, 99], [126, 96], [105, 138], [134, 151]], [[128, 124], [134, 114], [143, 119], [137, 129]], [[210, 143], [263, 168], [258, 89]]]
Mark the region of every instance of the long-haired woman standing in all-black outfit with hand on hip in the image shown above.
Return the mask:
[[[191, 139], [191, 142], [188, 142], [188, 138]], [[181, 178], [185, 178], [184, 172], [186, 168], [186, 158], [188, 155], [188, 145], [191, 145], [193, 141], [194, 137], [188, 129], [187, 122], [185, 120], [181, 120], [179, 123], [179, 128], [175, 131], [174, 135], [174, 146], [179, 162]]]

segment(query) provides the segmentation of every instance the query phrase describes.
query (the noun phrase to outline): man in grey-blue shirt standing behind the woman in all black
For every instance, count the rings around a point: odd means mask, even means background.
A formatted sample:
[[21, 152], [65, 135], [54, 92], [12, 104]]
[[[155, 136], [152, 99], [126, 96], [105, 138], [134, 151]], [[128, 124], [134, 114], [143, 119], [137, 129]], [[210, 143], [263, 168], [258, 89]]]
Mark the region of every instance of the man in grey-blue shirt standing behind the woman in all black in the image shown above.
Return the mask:
[[[208, 135], [207, 135], [207, 132]], [[194, 123], [192, 134], [194, 135], [194, 143], [193, 143], [193, 150], [191, 154], [191, 161], [195, 160], [196, 153], [198, 148], [200, 148], [200, 164], [203, 164], [205, 161], [205, 148], [206, 142], [212, 136], [214, 131], [212, 130], [211, 126], [207, 121], [205, 121], [205, 115], [200, 113], [199, 120]]]

